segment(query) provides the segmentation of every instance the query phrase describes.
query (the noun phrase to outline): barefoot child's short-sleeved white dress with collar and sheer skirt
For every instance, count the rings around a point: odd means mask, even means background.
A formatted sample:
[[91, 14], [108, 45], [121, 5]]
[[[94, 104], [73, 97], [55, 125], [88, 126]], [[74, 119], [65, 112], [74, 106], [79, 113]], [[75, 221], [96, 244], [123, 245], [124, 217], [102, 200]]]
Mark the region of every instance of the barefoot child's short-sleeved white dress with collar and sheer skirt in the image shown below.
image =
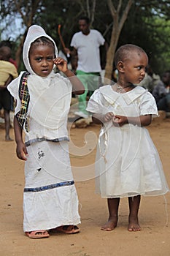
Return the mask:
[[[112, 86], [96, 90], [88, 111], [121, 116], [158, 116], [155, 99], [136, 86], [124, 94]], [[158, 151], [148, 130], [134, 124], [115, 127], [112, 121], [101, 127], [96, 154], [96, 192], [101, 197], [163, 195], [169, 191]]]

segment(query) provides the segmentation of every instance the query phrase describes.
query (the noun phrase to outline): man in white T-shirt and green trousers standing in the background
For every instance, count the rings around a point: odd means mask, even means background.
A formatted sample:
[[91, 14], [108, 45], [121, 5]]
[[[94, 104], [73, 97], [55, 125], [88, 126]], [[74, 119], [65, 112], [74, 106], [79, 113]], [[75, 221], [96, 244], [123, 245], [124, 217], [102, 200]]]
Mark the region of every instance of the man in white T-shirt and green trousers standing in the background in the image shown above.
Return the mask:
[[88, 118], [87, 95], [90, 97], [93, 91], [98, 89], [101, 72], [100, 46], [106, 45], [104, 37], [95, 29], [90, 29], [90, 20], [87, 17], [79, 19], [80, 32], [72, 37], [71, 47], [65, 48], [65, 53], [72, 56], [77, 55], [76, 75], [85, 86], [85, 93], [79, 99], [79, 110], [75, 115]]

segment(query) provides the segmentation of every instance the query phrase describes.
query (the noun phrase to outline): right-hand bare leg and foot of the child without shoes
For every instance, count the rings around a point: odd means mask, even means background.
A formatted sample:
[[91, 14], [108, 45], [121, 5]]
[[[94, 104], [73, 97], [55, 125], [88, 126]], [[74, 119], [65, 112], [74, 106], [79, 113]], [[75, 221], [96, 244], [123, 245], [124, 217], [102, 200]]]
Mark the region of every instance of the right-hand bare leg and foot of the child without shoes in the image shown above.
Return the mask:
[[128, 231], [139, 231], [141, 227], [138, 220], [138, 211], [141, 196], [128, 197], [129, 216], [128, 216]]

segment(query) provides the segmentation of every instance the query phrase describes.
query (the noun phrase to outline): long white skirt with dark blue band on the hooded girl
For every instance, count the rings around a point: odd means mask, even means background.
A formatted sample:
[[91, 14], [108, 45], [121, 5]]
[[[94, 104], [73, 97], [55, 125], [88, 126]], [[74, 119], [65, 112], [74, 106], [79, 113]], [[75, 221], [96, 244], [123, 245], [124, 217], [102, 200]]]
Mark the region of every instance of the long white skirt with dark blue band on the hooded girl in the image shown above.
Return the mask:
[[36, 142], [27, 147], [23, 230], [49, 230], [80, 223], [68, 142]]

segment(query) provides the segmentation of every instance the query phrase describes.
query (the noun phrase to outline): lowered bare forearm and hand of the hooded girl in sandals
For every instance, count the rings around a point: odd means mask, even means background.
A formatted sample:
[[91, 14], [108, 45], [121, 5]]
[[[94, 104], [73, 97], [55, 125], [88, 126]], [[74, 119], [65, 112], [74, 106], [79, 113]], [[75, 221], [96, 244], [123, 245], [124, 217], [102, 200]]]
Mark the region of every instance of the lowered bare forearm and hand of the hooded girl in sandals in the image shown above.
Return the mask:
[[23, 130], [18, 123], [16, 116], [14, 117], [14, 132], [15, 132], [15, 142], [17, 143], [16, 153], [19, 159], [25, 160], [28, 156], [26, 145], [23, 142]]

